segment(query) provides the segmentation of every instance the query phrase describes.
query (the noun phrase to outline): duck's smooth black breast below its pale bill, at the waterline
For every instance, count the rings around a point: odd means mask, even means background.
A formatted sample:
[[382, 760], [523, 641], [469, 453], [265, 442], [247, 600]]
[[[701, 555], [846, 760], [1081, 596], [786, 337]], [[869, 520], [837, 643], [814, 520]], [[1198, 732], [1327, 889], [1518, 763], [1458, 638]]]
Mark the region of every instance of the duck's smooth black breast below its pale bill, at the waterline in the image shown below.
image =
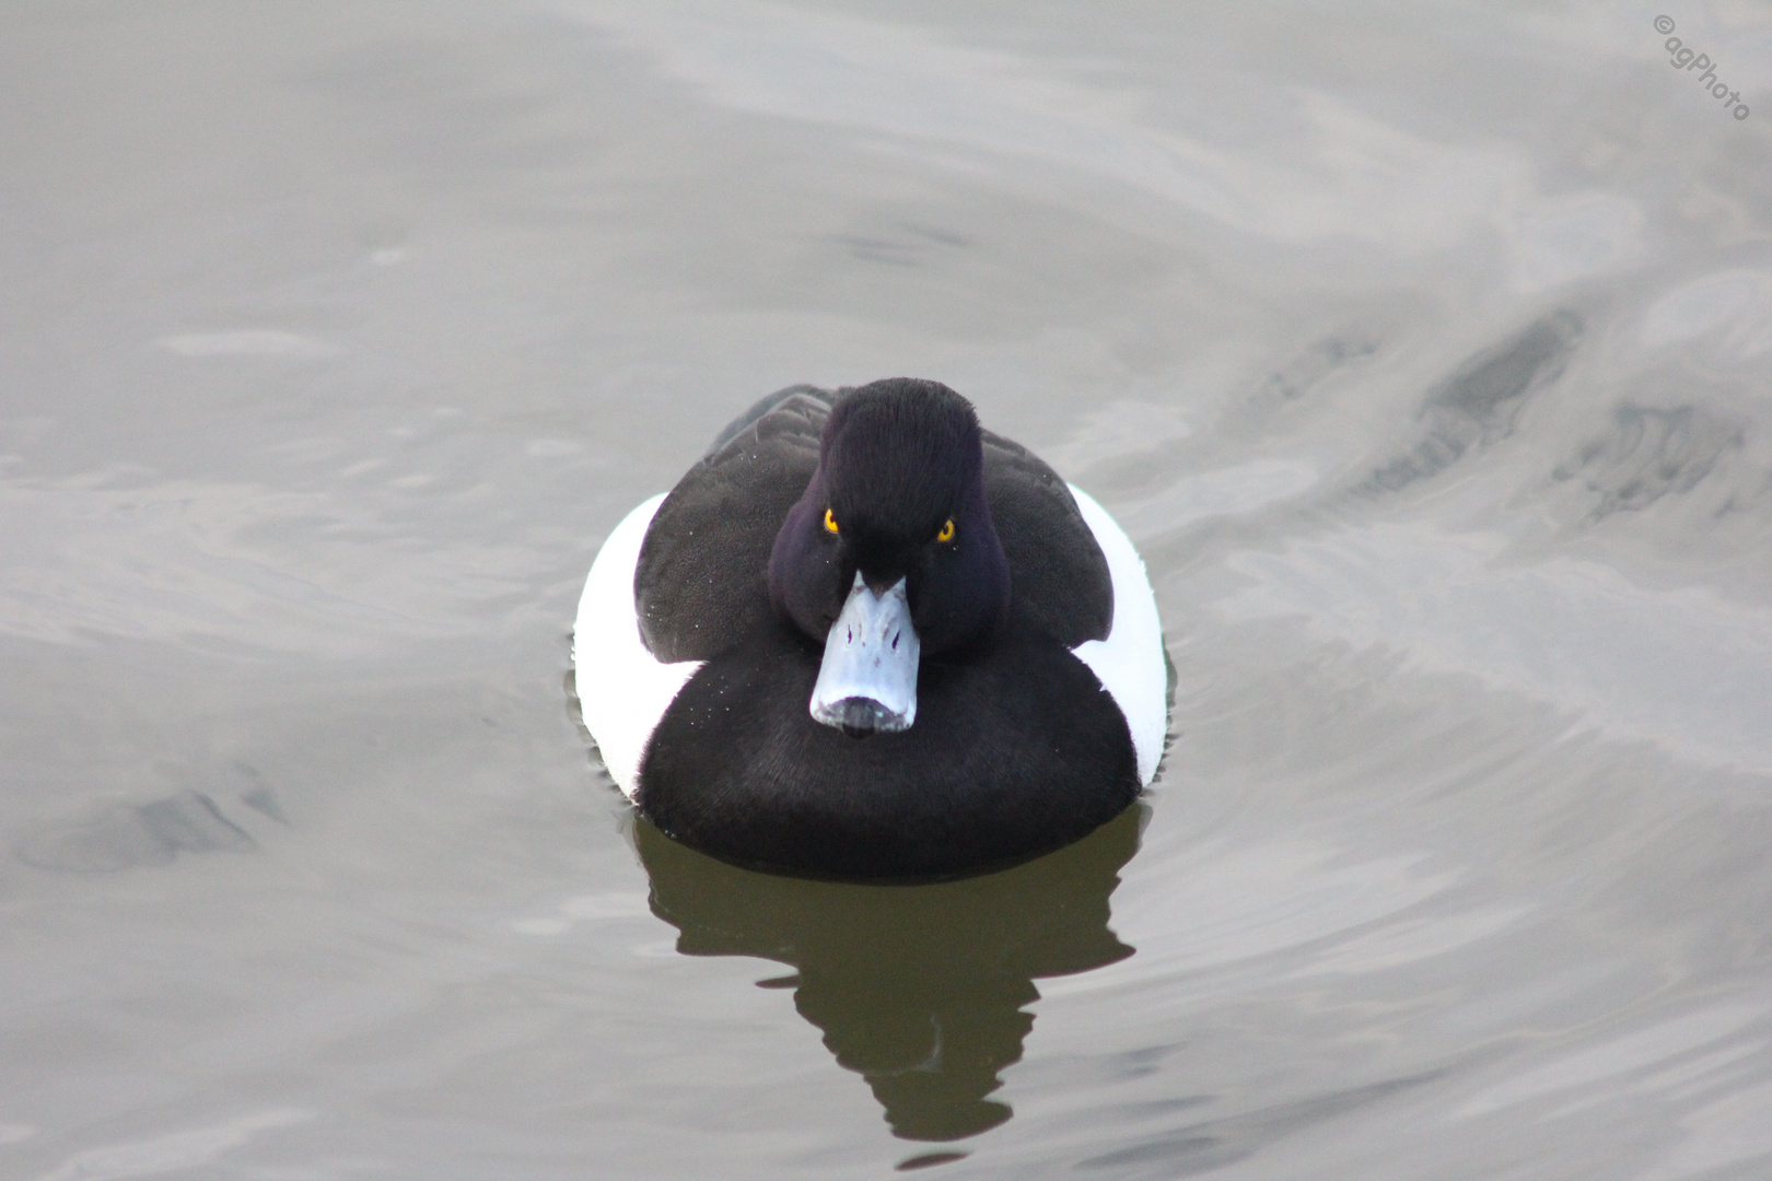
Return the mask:
[[925, 660], [916, 724], [849, 738], [806, 714], [819, 648], [776, 623], [664, 712], [640, 807], [705, 853], [840, 878], [932, 878], [1060, 848], [1138, 797], [1125, 719], [1081, 660], [1010, 623], [989, 659]]

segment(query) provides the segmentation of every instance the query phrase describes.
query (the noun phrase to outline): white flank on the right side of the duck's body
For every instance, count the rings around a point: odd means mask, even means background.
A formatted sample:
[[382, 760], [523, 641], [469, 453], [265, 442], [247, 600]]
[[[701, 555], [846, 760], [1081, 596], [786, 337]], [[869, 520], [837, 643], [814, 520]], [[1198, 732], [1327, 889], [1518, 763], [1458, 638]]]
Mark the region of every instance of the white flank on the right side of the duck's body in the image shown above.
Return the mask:
[[1145, 560], [1132, 549], [1131, 538], [1088, 492], [1074, 483], [1069, 487], [1113, 577], [1113, 629], [1108, 639], [1086, 639], [1070, 652], [1090, 666], [1125, 715], [1132, 749], [1138, 753], [1138, 781], [1148, 784], [1157, 774], [1162, 735], [1170, 726], [1170, 676], [1162, 666], [1157, 597], [1150, 590]]

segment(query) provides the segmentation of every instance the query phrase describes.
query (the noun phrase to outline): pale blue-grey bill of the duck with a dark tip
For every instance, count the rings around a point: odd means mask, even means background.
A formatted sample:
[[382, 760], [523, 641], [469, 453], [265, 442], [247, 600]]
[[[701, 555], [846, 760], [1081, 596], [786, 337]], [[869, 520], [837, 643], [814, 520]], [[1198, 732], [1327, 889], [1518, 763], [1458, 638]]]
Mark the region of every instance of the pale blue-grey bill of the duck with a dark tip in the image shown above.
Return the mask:
[[898, 579], [875, 595], [856, 574], [836, 623], [824, 637], [824, 662], [812, 691], [812, 717], [852, 738], [891, 735], [916, 721], [916, 629]]

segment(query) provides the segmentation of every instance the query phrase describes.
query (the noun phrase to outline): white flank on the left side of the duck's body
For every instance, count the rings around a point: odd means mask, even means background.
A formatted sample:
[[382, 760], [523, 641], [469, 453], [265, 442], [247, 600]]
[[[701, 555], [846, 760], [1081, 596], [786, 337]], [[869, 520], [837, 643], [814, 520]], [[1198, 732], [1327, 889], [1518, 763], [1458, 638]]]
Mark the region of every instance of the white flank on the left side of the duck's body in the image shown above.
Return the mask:
[[659, 492], [610, 533], [590, 563], [572, 625], [572, 676], [585, 729], [597, 740], [602, 765], [627, 799], [638, 786], [647, 738], [695, 669], [702, 668], [700, 660], [664, 664], [640, 643], [634, 567], [652, 513], [663, 503], [664, 494]]

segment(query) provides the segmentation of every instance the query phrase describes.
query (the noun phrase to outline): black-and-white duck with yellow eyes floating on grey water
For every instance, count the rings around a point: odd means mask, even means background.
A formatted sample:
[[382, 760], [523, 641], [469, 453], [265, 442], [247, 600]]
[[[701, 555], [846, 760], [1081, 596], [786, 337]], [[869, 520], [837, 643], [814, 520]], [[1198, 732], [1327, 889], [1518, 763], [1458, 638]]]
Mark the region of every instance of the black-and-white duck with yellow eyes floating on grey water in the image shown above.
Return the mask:
[[737, 866], [939, 880], [1088, 836], [1155, 777], [1150, 577], [952, 388], [789, 386], [608, 535], [585, 728], [659, 832]]

